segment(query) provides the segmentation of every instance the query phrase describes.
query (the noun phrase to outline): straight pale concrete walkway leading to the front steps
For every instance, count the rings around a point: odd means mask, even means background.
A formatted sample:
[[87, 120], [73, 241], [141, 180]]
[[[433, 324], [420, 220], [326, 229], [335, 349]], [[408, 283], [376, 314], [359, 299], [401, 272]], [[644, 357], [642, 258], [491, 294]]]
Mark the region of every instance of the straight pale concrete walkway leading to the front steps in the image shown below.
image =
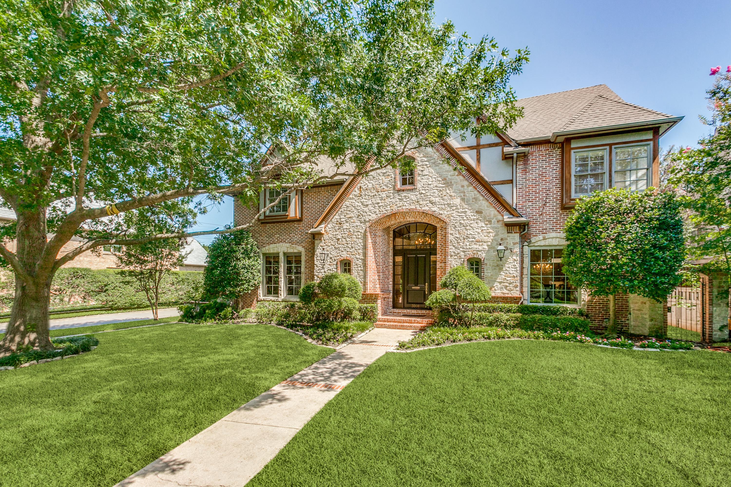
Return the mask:
[[243, 486], [342, 388], [398, 340], [413, 334], [370, 331], [251, 399], [115, 487]]

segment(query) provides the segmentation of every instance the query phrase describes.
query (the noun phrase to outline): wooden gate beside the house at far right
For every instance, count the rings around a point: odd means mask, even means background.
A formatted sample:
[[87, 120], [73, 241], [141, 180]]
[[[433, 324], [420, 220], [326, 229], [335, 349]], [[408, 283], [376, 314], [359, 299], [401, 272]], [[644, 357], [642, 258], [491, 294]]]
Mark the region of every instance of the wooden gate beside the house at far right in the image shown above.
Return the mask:
[[705, 283], [682, 284], [667, 298], [667, 337], [705, 342]]

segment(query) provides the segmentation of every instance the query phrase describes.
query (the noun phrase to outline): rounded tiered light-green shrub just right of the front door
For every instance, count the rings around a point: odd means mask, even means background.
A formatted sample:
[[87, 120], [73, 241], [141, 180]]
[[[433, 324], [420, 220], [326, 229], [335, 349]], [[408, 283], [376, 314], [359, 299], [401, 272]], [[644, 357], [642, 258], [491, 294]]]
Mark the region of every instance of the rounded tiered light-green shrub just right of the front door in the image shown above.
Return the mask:
[[442, 289], [432, 293], [425, 304], [434, 310], [449, 310], [450, 321], [459, 326], [471, 326], [477, 303], [491, 297], [490, 288], [465, 266], [450, 269], [439, 285]]

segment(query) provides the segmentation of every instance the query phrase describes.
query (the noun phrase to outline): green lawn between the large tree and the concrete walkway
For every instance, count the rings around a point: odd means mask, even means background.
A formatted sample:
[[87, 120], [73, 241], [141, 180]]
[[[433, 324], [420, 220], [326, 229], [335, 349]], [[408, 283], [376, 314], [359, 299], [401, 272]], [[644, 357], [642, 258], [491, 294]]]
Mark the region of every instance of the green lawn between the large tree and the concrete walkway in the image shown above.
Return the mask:
[[112, 486], [333, 351], [265, 325], [96, 337], [90, 353], [0, 372], [0, 486]]

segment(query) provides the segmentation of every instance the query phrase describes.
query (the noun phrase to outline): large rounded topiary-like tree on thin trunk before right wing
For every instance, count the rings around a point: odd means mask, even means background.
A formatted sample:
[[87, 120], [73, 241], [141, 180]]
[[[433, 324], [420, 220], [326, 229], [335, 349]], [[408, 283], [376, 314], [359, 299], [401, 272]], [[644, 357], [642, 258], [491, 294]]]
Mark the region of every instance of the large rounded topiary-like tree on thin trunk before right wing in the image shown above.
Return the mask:
[[616, 334], [614, 295], [663, 302], [681, 282], [683, 220], [673, 193], [610, 188], [580, 199], [566, 223], [562, 263], [568, 280], [610, 296], [607, 335]]

